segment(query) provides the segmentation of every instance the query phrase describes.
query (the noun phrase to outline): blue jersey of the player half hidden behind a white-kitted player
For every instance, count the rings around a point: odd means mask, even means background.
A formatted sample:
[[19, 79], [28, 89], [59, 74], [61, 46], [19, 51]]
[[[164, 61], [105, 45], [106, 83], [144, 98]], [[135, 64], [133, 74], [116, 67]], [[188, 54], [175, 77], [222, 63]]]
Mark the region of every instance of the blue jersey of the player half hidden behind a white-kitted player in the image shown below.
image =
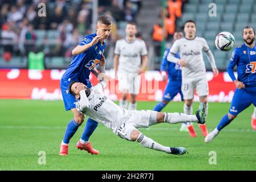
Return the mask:
[[[172, 63], [167, 60], [167, 56], [169, 52], [170, 52], [170, 48], [167, 48], [163, 55], [160, 70], [167, 71], [169, 80], [181, 81], [181, 67], [179, 64]], [[176, 53], [175, 57], [180, 59], [179, 53]]]

